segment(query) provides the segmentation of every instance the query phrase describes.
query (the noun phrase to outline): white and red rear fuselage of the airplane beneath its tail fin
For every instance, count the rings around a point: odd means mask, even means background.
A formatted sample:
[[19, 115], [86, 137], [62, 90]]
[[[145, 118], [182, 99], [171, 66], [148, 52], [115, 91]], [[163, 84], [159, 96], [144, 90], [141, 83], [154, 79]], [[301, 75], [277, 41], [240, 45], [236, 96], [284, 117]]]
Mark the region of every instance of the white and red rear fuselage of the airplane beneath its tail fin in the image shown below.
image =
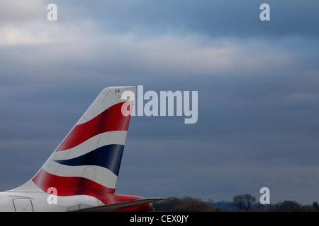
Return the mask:
[[[0, 212], [66, 212], [82, 208], [104, 206], [142, 199], [121, 194], [96, 194], [94, 196], [54, 196], [45, 192], [0, 192]], [[149, 211], [150, 203], [121, 208], [116, 211]]]

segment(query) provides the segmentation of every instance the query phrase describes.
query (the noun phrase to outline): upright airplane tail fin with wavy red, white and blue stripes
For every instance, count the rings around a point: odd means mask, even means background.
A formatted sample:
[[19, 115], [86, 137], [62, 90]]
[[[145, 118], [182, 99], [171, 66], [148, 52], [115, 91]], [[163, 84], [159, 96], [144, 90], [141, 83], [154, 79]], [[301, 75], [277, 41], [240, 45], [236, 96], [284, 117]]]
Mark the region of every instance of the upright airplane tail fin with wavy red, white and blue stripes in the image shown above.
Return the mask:
[[108, 87], [96, 97], [77, 124], [37, 174], [11, 191], [45, 191], [59, 196], [113, 194], [121, 165], [133, 100], [122, 100], [126, 90]]

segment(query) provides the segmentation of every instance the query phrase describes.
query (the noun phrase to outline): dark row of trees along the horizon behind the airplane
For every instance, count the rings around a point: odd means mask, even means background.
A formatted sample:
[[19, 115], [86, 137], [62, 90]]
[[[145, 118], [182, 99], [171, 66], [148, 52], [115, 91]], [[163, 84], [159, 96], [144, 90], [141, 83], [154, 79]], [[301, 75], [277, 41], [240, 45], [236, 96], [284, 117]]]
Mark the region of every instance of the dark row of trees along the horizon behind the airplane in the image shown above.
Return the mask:
[[200, 198], [169, 197], [164, 201], [153, 203], [158, 212], [318, 212], [319, 205], [301, 205], [296, 201], [284, 201], [276, 204], [262, 205], [250, 194], [237, 195], [232, 202], [203, 202]]

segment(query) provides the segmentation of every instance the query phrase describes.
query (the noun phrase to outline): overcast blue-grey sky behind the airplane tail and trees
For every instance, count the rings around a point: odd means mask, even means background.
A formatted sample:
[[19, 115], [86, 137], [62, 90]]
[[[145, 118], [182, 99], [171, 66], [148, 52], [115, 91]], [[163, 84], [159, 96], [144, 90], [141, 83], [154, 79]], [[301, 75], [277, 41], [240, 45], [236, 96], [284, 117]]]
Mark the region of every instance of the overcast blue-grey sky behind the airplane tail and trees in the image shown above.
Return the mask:
[[0, 190], [33, 177], [103, 88], [144, 85], [198, 91], [198, 121], [132, 117], [117, 194], [232, 201], [267, 186], [272, 203], [319, 201], [318, 10], [0, 0]]

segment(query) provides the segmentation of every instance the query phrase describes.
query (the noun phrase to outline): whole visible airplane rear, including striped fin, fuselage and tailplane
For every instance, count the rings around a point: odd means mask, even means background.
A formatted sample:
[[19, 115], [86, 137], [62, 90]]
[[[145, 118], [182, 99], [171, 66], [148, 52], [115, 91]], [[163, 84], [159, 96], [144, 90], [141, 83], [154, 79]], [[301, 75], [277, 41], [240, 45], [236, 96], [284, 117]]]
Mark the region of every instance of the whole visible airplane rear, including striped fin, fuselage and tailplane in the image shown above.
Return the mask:
[[[162, 198], [114, 194], [136, 87], [108, 87], [26, 184], [0, 193], [0, 211], [148, 211]], [[123, 109], [129, 114], [123, 114]]]

